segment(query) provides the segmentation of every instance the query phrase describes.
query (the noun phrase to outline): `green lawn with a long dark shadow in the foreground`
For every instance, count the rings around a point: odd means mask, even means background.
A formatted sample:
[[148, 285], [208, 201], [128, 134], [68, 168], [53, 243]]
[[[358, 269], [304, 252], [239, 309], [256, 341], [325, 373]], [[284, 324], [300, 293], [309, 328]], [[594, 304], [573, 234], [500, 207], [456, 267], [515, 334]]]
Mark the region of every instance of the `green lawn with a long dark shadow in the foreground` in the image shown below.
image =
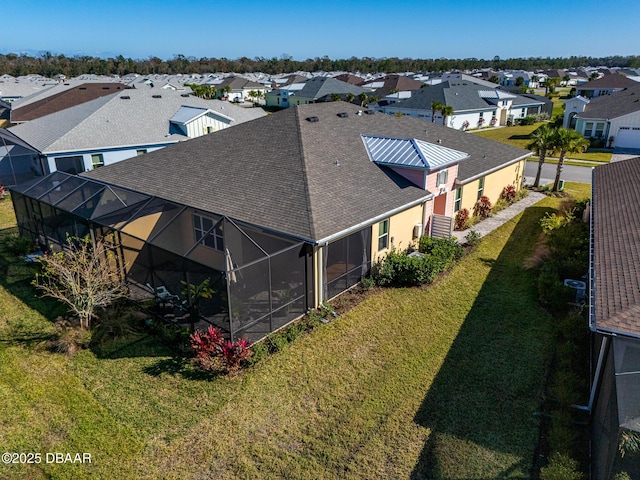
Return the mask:
[[437, 284], [373, 293], [231, 379], [204, 378], [144, 334], [48, 353], [50, 304], [0, 258], [0, 445], [93, 461], [0, 464], [0, 478], [529, 478], [555, 326], [523, 261], [559, 201], [487, 236]]

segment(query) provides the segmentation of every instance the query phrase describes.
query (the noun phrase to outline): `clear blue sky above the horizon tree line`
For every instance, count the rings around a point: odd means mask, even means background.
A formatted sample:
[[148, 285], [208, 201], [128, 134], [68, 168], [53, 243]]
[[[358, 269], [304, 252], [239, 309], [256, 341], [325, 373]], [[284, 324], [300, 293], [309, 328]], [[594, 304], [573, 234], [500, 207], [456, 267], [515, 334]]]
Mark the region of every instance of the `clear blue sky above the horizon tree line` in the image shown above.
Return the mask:
[[640, 55], [640, 0], [0, 0], [0, 12], [0, 53], [29, 55]]

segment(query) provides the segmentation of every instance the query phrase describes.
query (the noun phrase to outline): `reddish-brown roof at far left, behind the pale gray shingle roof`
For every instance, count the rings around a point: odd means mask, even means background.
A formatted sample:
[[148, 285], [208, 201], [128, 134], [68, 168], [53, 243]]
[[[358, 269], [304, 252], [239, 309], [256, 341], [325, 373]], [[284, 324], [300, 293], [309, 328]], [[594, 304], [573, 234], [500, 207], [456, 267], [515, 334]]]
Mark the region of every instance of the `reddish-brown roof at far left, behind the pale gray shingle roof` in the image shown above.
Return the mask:
[[61, 87], [63, 88], [53, 87], [47, 90], [49, 95], [44, 98], [41, 94], [37, 94], [35, 95], [37, 98], [24, 98], [15, 102], [11, 108], [11, 123], [35, 120], [128, 88], [124, 84], [113, 82], [67, 85], [68, 88], [64, 88], [65, 85], [62, 85]]

